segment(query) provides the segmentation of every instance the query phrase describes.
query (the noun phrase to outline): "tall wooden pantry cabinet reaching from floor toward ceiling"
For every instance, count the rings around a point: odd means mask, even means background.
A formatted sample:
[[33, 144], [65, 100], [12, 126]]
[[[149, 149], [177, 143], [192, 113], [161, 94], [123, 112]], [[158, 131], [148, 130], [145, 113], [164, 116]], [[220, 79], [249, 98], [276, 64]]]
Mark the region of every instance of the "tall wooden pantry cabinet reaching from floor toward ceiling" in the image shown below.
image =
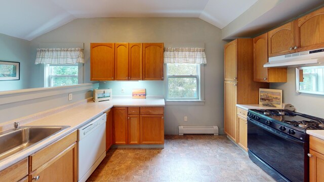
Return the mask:
[[236, 104], [258, 104], [259, 88], [253, 81], [253, 39], [238, 38], [224, 46], [224, 131], [237, 142]]

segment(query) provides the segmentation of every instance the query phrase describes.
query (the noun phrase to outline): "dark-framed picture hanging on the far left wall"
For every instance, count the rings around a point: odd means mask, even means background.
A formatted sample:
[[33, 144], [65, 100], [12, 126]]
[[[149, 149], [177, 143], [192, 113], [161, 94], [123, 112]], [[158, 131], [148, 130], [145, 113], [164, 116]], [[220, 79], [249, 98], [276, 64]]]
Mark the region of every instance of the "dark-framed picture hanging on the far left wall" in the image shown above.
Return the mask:
[[19, 80], [20, 79], [20, 63], [0, 61], [0, 81]]

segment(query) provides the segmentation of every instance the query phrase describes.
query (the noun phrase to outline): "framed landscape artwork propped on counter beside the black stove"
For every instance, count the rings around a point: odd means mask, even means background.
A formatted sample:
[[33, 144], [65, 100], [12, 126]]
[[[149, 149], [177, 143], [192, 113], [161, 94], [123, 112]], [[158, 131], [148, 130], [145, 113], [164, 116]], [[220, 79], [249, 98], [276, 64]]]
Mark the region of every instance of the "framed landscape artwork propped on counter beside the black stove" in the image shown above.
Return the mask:
[[282, 107], [282, 90], [259, 88], [259, 105]]

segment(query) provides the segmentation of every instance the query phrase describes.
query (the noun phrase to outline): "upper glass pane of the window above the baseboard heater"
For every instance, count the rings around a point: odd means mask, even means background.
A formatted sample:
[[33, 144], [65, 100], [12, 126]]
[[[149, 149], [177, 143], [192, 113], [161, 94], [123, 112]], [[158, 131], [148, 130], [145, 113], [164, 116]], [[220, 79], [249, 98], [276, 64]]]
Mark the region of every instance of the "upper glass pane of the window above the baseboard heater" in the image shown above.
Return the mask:
[[168, 75], [197, 75], [198, 64], [168, 64]]

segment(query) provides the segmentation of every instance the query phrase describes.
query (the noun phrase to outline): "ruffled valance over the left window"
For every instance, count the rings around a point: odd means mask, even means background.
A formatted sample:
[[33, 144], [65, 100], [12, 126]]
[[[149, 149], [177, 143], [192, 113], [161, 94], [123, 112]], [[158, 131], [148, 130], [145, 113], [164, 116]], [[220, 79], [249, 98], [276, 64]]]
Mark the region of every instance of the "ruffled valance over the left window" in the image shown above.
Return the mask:
[[35, 64], [85, 63], [81, 48], [37, 49]]

